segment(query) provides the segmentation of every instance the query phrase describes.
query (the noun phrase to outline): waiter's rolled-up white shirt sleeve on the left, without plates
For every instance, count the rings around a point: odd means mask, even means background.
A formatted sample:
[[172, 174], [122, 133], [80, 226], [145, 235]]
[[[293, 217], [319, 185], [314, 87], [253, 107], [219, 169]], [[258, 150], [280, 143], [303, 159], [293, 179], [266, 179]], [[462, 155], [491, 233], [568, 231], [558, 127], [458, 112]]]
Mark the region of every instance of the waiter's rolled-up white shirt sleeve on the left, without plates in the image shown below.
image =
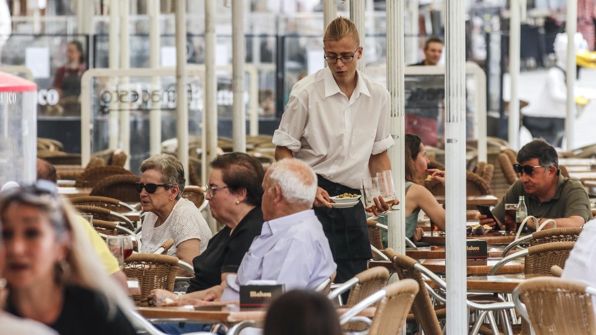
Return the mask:
[[273, 144], [286, 147], [291, 151], [300, 151], [300, 138], [304, 134], [308, 107], [295, 95], [290, 96], [284, 114], [281, 116], [280, 127], [273, 134]]

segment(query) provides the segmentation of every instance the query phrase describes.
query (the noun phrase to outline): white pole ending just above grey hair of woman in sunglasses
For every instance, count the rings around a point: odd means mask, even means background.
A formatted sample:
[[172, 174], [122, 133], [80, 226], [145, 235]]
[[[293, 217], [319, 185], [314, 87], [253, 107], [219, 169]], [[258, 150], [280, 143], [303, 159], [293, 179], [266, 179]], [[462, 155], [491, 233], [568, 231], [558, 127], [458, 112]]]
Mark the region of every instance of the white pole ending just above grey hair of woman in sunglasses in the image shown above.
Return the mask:
[[[160, 67], [160, 1], [150, 0], [147, 2], [149, 14], [149, 67], [157, 69]], [[161, 91], [161, 80], [159, 77], [151, 77], [151, 89]], [[152, 96], [152, 94], [150, 94]], [[151, 156], [162, 151], [162, 110], [160, 103], [153, 104], [150, 99], [151, 110], [149, 111], [149, 152]]]

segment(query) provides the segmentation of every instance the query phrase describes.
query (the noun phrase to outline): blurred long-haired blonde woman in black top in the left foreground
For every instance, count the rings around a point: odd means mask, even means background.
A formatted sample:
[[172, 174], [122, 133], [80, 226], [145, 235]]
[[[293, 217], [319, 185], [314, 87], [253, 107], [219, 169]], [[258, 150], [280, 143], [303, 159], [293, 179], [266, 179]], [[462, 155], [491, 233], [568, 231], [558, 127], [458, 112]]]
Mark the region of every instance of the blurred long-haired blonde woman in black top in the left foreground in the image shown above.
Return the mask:
[[125, 292], [101, 268], [76, 219], [51, 182], [2, 193], [6, 311], [63, 335], [135, 334]]

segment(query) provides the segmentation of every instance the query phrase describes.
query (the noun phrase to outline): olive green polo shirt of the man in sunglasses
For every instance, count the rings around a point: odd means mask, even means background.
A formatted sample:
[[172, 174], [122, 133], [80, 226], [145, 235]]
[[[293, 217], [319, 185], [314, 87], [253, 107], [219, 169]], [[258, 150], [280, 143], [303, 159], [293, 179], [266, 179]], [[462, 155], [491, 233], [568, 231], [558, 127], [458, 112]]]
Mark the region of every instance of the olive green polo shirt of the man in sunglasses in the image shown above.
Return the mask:
[[517, 180], [511, 185], [501, 201], [496, 204], [492, 210], [492, 214], [502, 224], [505, 224], [505, 204], [517, 204], [519, 197], [524, 196], [527, 215], [532, 215], [539, 219], [569, 218], [570, 216], [577, 215], [581, 216], [585, 222], [588, 222], [592, 218], [592, 211], [588, 193], [583, 188], [582, 183], [576, 179], [569, 179], [562, 176], [561, 170], [558, 170], [557, 175], [557, 191], [555, 191], [551, 200], [541, 202], [538, 197], [527, 194], [524, 191], [522, 181]]

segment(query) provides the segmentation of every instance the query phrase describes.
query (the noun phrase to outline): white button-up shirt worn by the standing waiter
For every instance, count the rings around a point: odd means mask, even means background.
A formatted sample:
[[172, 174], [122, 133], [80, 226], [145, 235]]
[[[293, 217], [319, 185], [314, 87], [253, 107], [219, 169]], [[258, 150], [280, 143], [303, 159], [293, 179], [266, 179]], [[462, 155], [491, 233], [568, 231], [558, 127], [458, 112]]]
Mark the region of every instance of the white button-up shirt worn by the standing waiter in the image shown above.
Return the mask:
[[273, 143], [293, 151], [315, 173], [347, 187], [361, 188], [371, 154], [394, 141], [389, 133], [389, 92], [357, 72], [348, 100], [326, 67], [294, 85]]

